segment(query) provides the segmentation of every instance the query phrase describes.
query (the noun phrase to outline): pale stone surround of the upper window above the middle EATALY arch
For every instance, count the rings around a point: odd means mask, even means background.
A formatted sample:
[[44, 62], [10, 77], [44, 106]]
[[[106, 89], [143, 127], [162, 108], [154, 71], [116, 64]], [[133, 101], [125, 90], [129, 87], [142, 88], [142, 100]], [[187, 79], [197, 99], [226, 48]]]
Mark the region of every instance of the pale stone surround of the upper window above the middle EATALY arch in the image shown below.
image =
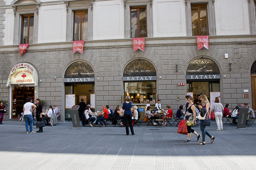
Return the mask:
[[[126, 0], [125, 0], [126, 1]], [[153, 37], [153, 9], [151, 0], [140, 0], [140, 2], [126, 1], [125, 7], [125, 38], [131, 38], [131, 8], [146, 7], [147, 37]]]

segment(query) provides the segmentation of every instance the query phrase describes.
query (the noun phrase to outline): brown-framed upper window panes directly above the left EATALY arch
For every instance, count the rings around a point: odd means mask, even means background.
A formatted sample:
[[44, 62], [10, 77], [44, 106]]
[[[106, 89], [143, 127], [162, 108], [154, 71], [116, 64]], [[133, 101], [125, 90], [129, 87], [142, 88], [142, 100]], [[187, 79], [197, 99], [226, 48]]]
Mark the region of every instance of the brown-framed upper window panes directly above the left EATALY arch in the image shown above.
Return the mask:
[[73, 40], [88, 40], [88, 11], [74, 11]]

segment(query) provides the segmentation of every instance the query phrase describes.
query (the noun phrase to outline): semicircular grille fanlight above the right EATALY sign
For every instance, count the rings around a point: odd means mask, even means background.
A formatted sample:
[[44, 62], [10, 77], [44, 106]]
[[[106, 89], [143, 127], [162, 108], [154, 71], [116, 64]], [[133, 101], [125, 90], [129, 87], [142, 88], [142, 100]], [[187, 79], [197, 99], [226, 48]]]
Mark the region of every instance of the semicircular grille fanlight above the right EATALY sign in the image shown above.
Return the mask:
[[220, 74], [220, 70], [211, 59], [201, 57], [189, 64], [186, 74]]

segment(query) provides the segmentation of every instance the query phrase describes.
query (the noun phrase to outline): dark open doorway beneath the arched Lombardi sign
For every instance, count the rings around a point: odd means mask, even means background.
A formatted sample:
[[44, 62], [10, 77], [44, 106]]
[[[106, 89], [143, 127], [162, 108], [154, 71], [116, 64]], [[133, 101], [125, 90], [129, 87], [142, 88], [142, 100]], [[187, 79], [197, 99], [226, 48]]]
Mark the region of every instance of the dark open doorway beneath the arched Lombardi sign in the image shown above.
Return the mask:
[[35, 87], [15, 87], [12, 90], [12, 119], [20, 119], [28, 97], [32, 97], [35, 102]]

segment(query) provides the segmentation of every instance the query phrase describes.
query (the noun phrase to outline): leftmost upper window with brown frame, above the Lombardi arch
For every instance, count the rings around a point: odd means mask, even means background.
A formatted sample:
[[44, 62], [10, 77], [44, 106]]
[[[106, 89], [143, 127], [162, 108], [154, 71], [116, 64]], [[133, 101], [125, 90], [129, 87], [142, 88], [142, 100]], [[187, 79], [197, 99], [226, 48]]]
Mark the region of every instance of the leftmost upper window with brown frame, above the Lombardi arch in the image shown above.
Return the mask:
[[20, 44], [33, 44], [34, 15], [23, 15]]

